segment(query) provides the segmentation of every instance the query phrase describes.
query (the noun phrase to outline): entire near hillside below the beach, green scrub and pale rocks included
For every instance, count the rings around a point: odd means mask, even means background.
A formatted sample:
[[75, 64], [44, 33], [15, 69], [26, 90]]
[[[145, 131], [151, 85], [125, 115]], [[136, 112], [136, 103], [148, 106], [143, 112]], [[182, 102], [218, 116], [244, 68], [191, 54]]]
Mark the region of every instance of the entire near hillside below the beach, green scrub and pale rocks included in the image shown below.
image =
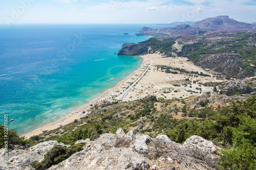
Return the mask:
[[[231, 102], [230, 106], [228, 101], [239, 98], [205, 97], [157, 100], [148, 96], [133, 102], [94, 106], [91, 114], [72, 124], [31, 137], [31, 144], [39, 142], [32, 148], [10, 143], [11, 161], [1, 165], [1, 169], [7, 166], [33, 169], [28, 166], [33, 161], [42, 162], [31, 164], [37, 169], [52, 164], [55, 165], [49, 169], [69, 169], [74, 165], [76, 169], [152, 169], [155, 165], [158, 169], [253, 169], [256, 163], [253, 147], [256, 96], [243, 102]], [[244, 98], [246, 96], [240, 96]], [[220, 102], [224, 106], [218, 104]], [[184, 118], [175, 118], [176, 115]], [[216, 151], [216, 145], [222, 148], [221, 154]], [[4, 159], [4, 151], [0, 152], [1, 159]], [[51, 154], [57, 151], [59, 154]], [[237, 160], [238, 156], [243, 156], [243, 160]], [[51, 157], [55, 163], [47, 164], [49, 159], [53, 161]]]

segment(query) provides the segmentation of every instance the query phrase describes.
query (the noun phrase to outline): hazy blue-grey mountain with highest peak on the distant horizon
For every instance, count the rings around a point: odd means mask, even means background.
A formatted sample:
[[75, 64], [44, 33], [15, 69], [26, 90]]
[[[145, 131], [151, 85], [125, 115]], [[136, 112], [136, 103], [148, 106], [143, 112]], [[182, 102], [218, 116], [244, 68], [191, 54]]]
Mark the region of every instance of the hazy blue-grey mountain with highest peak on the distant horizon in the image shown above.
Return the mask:
[[197, 21], [192, 25], [193, 28], [201, 30], [211, 31], [248, 31], [255, 30], [255, 25], [246, 22], [239, 22], [234, 19], [230, 19], [228, 16], [217, 16], [214, 18], [206, 18], [201, 21]]

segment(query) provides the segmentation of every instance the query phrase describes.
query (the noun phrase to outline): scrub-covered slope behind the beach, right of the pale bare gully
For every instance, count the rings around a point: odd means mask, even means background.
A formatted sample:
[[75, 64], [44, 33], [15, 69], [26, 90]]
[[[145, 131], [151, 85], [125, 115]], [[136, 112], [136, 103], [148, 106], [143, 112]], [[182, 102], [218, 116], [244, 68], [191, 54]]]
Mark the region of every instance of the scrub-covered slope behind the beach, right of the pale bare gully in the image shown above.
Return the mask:
[[[228, 77], [244, 78], [254, 76], [256, 67], [253, 65], [256, 64], [256, 46], [253, 44], [255, 41], [256, 33], [246, 32], [225, 37], [219, 41], [201, 39], [196, 43], [184, 45], [179, 56], [185, 56], [196, 65], [214, 69]], [[206, 59], [205, 62], [204, 59]], [[227, 66], [224, 65], [225, 63]], [[243, 71], [246, 73], [241, 75]]]

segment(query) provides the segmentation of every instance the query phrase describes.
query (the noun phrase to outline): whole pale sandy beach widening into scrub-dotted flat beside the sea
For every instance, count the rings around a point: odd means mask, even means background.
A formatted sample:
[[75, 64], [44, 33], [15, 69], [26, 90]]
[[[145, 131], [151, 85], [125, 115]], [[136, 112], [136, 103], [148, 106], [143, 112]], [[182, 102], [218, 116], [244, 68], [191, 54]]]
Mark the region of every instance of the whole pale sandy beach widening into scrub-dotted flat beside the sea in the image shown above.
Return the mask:
[[[115, 87], [106, 90], [98, 98], [76, 109], [69, 115], [22, 136], [30, 138], [31, 136], [42, 133], [42, 131], [49, 131], [59, 126], [67, 125], [75, 119], [90, 114], [90, 107], [95, 104], [100, 104], [100, 102], [103, 101], [111, 101], [113, 99], [133, 101], [147, 95], [156, 95], [157, 98], [165, 99], [187, 98], [189, 96], [202, 95], [205, 92], [212, 91], [212, 87], [202, 86], [200, 84], [221, 81], [213, 77], [196, 77], [195, 75], [189, 74], [167, 74], [157, 68], [157, 65], [166, 65], [183, 68], [189, 71], [203, 72], [204, 74], [212, 76], [213, 72], [208, 72], [194, 65], [192, 62], [188, 62], [187, 59], [183, 57], [163, 58], [160, 54], [147, 54], [141, 57], [143, 58], [141, 67], [121, 82], [117, 83]], [[190, 82], [194, 83], [186, 84], [185, 79], [189, 79]], [[116, 83], [114, 80], [111, 82]]]

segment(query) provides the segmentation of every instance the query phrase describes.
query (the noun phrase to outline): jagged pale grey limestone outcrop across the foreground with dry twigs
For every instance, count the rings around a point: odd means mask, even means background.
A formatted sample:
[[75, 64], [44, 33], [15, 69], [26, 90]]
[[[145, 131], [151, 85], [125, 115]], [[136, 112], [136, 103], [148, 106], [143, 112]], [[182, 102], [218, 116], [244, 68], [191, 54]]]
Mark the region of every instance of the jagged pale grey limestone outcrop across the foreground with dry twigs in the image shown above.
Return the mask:
[[[84, 143], [82, 151], [48, 169], [215, 169], [218, 164], [217, 147], [196, 135], [178, 144], [166, 135], [151, 138], [136, 131], [125, 134], [118, 129], [116, 134], [102, 134], [94, 141], [76, 143]], [[42, 161], [55, 144], [65, 145], [51, 140], [30, 148], [15, 146], [9, 152], [9, 163], [0, 165], [0, 169], [34, 169], [30, 163]], [[3, 156], [2, 149], [1, 162]]]

